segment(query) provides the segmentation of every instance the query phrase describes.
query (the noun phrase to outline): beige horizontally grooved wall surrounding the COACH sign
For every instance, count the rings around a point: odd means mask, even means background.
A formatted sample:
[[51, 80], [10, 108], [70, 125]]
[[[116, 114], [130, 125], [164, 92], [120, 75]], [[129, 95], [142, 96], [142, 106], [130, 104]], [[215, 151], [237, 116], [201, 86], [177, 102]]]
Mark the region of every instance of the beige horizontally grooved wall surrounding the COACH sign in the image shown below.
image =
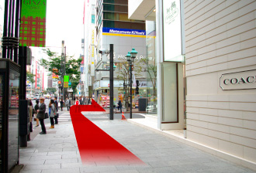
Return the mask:
[[256, 69], [256, 2], [185, 1], [187, 137], [256, 162], [256, 89], [220, 76]]

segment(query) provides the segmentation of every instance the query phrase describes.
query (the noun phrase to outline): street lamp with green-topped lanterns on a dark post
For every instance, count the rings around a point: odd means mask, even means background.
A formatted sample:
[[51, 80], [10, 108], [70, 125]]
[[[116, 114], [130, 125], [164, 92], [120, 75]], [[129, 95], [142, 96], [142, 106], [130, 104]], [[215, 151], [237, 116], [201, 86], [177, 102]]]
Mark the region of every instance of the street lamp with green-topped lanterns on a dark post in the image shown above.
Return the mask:
[[130, 119], [133, 118], [133, 78], [132, 78], [132, 72], [133, 72], [133, 61], [137, 56], [137, 51], [133, 48], [131, 52], [127, 53], [126, 58], [127, 61], [130, 63]]

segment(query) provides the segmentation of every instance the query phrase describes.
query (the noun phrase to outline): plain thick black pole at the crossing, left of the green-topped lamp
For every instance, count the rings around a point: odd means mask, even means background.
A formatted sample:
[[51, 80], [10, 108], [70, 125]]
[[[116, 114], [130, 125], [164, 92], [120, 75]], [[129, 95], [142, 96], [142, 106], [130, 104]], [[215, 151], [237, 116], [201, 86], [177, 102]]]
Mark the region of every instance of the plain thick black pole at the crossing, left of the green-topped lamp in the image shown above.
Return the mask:
[[110, 53], [110, 116], [109, 119], [114, 119], [114, 48], [113, 44], [109, 45], [109, 53]]

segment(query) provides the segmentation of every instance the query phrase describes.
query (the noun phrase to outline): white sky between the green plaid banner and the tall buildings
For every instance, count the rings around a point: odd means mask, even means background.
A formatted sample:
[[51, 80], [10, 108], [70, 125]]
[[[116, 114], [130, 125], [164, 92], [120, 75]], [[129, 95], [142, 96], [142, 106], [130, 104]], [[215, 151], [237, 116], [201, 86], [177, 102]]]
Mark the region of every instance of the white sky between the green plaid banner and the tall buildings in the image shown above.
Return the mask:
[[[78, 58], [81, 53], [81, 36], [83, 36], [83, 12], [84, 0], [48, 0], [46, 46], [61, 47], [61, 42], [64, 40], [67, 55]], [[60, 48], [52, 50], [61, 55]]]

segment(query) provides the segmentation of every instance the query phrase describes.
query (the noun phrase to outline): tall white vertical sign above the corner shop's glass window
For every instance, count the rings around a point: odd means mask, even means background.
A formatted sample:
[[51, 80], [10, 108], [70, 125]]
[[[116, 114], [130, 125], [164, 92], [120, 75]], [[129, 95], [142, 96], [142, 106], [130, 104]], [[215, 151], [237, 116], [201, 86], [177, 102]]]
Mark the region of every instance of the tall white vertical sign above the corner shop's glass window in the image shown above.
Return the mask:
[[163, 1], [164, 61], [182, 62], [180, 0]]

